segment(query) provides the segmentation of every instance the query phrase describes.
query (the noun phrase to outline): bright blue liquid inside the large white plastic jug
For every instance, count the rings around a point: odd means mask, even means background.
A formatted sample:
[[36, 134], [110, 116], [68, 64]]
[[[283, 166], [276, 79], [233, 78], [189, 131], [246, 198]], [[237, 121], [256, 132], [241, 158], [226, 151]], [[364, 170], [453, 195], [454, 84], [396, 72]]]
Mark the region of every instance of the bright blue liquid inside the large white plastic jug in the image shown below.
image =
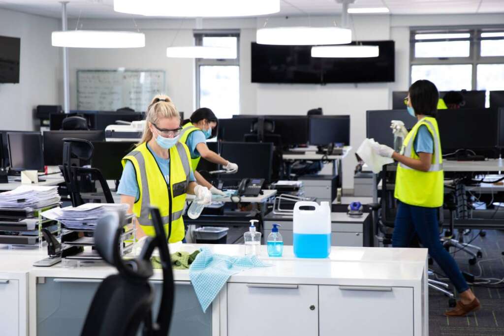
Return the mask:
[[327, 258], [331, 252], [331, 234], [294, 233], [294, 254], [298, 258]]

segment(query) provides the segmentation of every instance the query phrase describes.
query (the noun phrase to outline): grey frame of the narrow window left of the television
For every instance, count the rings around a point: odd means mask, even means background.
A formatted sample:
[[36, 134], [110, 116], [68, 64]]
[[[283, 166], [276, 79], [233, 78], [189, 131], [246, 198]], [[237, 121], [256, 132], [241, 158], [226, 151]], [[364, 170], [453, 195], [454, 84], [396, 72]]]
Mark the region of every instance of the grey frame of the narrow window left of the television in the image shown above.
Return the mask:
[[[217, 66], [240, 66], [240, 31], [235, 29], [225, 30], [194, 30], [195, 45], [203, 45], [204, 37], [236, 37], [236, 58], [234, 59], [217, 59], [217, 58], [196, 58], [196, 108], [200, 108], [201, 101], [201, 72], [200, 66], [217, 65]], [[239, 90], [239, 88], [238, 88]]]

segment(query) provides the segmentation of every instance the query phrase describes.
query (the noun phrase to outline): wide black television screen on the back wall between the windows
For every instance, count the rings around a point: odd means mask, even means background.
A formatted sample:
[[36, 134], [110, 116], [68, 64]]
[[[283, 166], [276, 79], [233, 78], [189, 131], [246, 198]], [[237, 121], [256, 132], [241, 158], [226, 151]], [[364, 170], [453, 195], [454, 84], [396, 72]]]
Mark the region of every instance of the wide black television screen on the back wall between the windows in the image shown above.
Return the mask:
[[319, 58], [311, 57], [311, 46], [265, 45], [252, 42], [252, 82], [308, 84], [394, 82], [394, 41], [359, 43], [379, 46], [380, 55], [370, 58]]

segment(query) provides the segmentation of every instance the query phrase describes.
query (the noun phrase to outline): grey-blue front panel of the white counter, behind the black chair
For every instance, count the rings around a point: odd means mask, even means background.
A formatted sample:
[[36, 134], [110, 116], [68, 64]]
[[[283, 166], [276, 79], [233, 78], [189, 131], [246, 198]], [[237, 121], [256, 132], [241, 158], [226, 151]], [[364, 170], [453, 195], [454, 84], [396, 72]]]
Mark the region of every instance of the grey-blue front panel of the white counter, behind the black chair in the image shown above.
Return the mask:
[[[37, 336], [80, 335], [100, 282], [101, 279], [45, 278], [43, 283], [37, 283]], [[161, 285], [159, 281], [151, 284], [155, 290], [153, 312], [157, 314]], [[176, 282], [170, 335], [211, 334], [212, 307], [203, 313], [191, 283]]]

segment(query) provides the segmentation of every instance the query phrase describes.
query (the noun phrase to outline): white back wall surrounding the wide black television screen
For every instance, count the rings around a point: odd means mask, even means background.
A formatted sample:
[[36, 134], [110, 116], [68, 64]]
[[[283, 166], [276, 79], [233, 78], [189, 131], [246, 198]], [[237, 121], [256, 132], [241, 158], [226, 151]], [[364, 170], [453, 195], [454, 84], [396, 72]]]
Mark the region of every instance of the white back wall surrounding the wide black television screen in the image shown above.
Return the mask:
[[[308, 25], [331, 26], [331, 17], [273, 17], [268, 27]], [[82, 20], [81, 20], [82, 21]], [[240, 29], [240, 112], [243, 114], [305, 114], [314, 107], [323, 107], [326, 114], [350, 114], [352, 153], [344, 161], [343, 187], [353, 188], [353, 153], [365, 138], [365, 112], [387, 109], [392, 105], [392, 91], [404, 91], [409, 86], [409, 29], [412, 26], [488, 25], [502, 24], [504, 15], [410, 15], [354, 16], [351, 28], [357, 40], [389, 40], [396, 42], [396, 81], [377, 84], [257, 84], [250, 82], [250, 42], [255, 41], [256, 29], [263, 27], [265, 18], [204, 20], [204, 29]], [[308, 22], [310, 21], [310, 22]], [[339, 23], [339, 18], [336, 20]], [[75, 108], [77, 69], [107, 69], [124, 66], [130, 69], [164, 69], [167, 72], [166, 92], [182, 111], [194, 109], [194, 60], [168, 59], [165, 47], [170, 45], [179, 27], [174, 45], [194, 43], [194, 20], [138, 20], [146, 33], [146, 48], [138, 50], [84, 50], [70, 52], [71, 106]], [[75, 22], [70, 23], [70, 27]], [[129, 29], [130, 20], [85, 20], [84, 29]], [[91, 27], [91, 28], [89, 28]]]

